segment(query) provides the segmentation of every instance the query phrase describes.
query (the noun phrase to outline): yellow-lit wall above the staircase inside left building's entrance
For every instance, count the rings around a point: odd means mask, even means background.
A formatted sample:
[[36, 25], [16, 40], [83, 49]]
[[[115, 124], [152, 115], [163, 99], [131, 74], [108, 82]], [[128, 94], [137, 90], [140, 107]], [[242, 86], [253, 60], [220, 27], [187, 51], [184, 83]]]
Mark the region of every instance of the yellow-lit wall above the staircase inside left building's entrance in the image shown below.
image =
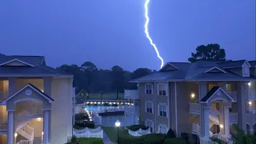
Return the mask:
[[29, 126], [34, 127], [34, 137], [42, 138], [42, 130], [43, 130], [43, 119], [42, 118], [33, 118], [30, 122], [28, 122]]

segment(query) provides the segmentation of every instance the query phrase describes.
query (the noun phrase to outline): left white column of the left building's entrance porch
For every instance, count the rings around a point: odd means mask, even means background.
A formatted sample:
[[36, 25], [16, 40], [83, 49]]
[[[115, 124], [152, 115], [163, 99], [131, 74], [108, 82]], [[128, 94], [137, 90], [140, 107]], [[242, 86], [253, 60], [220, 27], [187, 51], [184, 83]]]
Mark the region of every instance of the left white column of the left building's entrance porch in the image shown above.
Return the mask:
[[7, 143], [14, 144], [14, 111], [8, 111]]

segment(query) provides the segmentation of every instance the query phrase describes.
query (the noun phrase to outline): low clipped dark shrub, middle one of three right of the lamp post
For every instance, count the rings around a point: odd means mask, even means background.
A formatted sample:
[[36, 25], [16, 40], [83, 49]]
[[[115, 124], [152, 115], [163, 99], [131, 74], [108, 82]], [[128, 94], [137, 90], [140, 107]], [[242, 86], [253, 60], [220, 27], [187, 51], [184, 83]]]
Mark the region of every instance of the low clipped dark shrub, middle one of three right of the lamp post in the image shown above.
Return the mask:
[[143, 142], [146, 144], [162, 144], [165, 139], [165, 134], [146, 134], [143, 138]]

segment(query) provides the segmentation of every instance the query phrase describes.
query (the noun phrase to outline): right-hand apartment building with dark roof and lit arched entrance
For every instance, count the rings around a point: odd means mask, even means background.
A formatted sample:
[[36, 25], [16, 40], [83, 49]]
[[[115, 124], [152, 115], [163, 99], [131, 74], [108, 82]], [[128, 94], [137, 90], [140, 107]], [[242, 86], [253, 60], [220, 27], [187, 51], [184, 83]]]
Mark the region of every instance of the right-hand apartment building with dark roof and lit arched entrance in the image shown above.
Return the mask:
[[256, 132], [256, 62], [168, 62], [154, 74], [137, 78], [140, 122], [153, 132], [172, 129], [210, 137], [230, 138], [238, 123]]

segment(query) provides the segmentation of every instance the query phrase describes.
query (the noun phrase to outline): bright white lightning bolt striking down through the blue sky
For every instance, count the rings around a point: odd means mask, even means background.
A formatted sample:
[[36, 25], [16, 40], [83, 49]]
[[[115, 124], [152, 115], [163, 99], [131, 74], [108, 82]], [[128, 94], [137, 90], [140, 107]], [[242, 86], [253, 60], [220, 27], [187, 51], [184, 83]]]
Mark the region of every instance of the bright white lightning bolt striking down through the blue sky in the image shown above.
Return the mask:
[[149, 5], [149, 3], [150, 3], [150, 0], [146, 0], [146, 2], [144, 4], [145, 18], [146, 18], [146, 22], [145, 22], [145, 25], [144, 25], [144, 27], [145, 27], [145, 34], [146, 34], [146, 38], [149, 39], [151, 46], [154, 47], [154, 50], [157, 53], [158, 58], [161, 60], [161, 67], [160, 68], [162, 68], [162, 66], [163, 66], [163, 59], [162, 59], [162, 57], [160, 56], [160, 54], [158, 52], [158, 47], [155, 46], [153, 40], [150, 38], [150, 34], [149, 34], [149, 30], [148, 30], [148, 25], [149, 25], [149, 22], [150, 22], [150, 18], [148, 16], [148, 5]]

